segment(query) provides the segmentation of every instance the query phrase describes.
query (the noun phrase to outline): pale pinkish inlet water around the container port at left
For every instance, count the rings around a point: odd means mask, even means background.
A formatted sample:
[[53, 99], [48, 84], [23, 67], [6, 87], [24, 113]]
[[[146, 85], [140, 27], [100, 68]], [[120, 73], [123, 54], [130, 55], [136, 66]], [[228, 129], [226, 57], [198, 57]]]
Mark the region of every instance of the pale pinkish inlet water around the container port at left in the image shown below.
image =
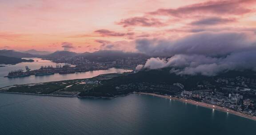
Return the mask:
[[9, 85], [14, 85], [14, 84], [41, 83], [41, 82], [51, 82], [51, 81], [60, 81], [60, 80], [68, 80], [68, 79], [83, 79], [83, 78], [91, 78], [100, 74], [130, 71], [130, 70], [124, 70], [124, 69], [110, 68], [108, 70], [87, 71], [87, 72], [64, 74], [64, 75], [60, 75], [60, 74], [42, 75], [42, 76], [30, 75], [27, 77], [17, 77], [17, 78], [4, 77], [8, 75], [9, 71], [17, 70], [17, 69], [25, 70], [25, 66], [28, 66], [32, 70], [39, 69], [42, 65], [52, 65], [53, 67], [56, 66], [56, 63], [53, 63], [49, 60], [41, 60], [39, 58], [28, 58], [28, 59], [33, 59], [35, 60], [35, 62], [23, 62], [16, 65], [8, 65], [8, 66], [4, 65], [6, 67], [0, 67], [0, 87], [5, 87]]

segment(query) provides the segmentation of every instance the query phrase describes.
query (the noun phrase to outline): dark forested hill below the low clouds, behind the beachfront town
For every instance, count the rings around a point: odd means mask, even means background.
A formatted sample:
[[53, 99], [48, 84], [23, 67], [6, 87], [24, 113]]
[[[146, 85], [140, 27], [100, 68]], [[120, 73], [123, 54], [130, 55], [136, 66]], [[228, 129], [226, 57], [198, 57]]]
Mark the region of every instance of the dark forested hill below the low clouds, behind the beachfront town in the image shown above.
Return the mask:
[[[139, 71], [109, 80], [102, 81], [103, 85], [80, 93], [80, 97], [113, 97], [115, 95], [125, 95], [131, 92], [149, 92], [174, 95], [180, 93], [182, 89], [173, 86], [173, 83], [182, 83], [184, 89], [188, 91], [199, 90], [198, 85], [207, 85], [208, 89], [220, 87], [215, 82], [216, 77], [233, 78], [244, 76], [256, 79], [254, 71], [227, 71], [217, 76], [204, 75], [176, 75], [170, 73], [170, 68], [161, 70]], [[117, 88], [121, 87], [121, 88]]]

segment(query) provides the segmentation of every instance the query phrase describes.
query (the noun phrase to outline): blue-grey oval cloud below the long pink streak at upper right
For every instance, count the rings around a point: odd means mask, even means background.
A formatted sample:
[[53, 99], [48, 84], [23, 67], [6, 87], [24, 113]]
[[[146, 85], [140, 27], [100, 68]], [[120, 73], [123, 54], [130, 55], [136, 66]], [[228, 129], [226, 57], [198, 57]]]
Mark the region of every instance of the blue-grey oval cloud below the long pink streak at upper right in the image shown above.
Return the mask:
[[208, 17], [201, 20], [193, 21], [192, 25], [215, 25], [215, 24], [226, 24], [235, 22], [234, 18], [220, 18], [220, 17]]

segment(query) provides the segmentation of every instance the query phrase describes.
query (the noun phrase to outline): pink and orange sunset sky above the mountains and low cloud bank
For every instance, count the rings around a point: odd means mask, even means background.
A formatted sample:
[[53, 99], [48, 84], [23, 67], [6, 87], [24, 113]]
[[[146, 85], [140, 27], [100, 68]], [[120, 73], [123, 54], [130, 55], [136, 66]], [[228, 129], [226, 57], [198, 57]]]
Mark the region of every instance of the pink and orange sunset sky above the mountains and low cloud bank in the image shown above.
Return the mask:
[[177, 43], [203, 32], [251, 39], [255, 5], [256, 0], [0, 0], [0, 49], [141, 52], [140, 39]]

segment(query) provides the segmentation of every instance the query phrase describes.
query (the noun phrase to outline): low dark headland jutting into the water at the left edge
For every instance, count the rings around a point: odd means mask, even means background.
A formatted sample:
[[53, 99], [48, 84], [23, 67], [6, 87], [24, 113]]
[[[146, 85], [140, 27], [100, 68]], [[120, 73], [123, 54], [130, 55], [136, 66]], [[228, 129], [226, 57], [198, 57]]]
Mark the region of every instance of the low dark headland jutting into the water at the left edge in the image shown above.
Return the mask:
[[14, 57], [0, 56], [0, 64], [18, 64], [20, 62], [33, 62], [34, 60], [25, 60]]

